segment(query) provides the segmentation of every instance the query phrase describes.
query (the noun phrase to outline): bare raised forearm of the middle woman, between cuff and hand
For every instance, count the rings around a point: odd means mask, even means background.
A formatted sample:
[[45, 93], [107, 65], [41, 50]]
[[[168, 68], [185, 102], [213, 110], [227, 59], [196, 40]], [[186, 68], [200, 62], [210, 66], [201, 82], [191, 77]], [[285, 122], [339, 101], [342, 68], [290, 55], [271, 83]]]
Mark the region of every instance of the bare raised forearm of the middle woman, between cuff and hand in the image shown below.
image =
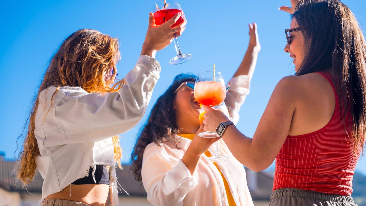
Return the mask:
[[248, 49], [244, 55], [242, 63], [238, 70], [236, 70], [233, 77], [240, 75], [248, 75], [250, 78], [253, 76], [255, 65], [257, 64], [258, 49], [257, 47], [249, 44]]

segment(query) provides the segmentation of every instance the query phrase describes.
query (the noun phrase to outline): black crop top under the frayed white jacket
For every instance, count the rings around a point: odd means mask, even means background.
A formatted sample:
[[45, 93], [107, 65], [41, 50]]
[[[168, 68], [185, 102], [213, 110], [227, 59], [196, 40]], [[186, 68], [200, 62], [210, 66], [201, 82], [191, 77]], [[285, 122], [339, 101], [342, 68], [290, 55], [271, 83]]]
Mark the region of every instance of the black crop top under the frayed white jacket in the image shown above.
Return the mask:
[[93, 168], [89, 168], [89, 175], [75, 180], [71, 184], [109, 184], [109, 173], [105, 168], [105, 165], [96, 165], [94, 177], [96, 182], [93, 180]]

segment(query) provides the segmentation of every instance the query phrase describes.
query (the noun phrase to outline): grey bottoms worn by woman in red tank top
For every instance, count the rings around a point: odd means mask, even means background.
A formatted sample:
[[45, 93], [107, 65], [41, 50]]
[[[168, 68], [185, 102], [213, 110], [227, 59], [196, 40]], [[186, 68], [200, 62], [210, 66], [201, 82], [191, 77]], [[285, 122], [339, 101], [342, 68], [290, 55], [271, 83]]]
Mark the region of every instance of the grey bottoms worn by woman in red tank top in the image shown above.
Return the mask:
[[280, 188], [273, 191], [269, 206], [357, 206], [350, 195]]

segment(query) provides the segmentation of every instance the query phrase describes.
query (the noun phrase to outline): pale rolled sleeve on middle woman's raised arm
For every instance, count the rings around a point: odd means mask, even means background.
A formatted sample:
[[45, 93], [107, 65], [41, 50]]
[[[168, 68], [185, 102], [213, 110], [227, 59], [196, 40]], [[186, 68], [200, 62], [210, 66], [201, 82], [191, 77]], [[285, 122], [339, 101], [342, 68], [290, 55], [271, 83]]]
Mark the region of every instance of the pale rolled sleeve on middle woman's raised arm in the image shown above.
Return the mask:
[[229, 81], [231, 81], [231, 85], [226, 93], [224, 102], [228, 107], [231, 121], [236, 124], [239, 121], [240, 107], [250, 91], [250, 77], [240, 75], [231, 78]]

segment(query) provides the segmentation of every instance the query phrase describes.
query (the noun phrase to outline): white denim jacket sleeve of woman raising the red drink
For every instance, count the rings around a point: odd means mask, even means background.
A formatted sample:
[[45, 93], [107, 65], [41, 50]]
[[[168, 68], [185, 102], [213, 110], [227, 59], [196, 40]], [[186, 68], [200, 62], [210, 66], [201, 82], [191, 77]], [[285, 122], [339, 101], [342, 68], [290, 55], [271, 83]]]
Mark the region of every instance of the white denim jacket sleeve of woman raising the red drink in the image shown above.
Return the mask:
[[[78, 87], [61, 87], [52, 99], [55, 111], [47, 114], [47, 107], [37, 110], [44, 117], [40, 119], [45, 119], [38, 124], [40, 132], [44, 132], [47, 139], [55, 136], [58, 142], [55, 144], [61, 144], [59, 141], [63, 144], [96, 142], [127, 132], [143, 117], [160, 70], [156, 59], [141, 55], [124, 78], [126, 84], [119, 92], [87, 93]], [[45, 92], [44, 102], [52, 102], [50, 96], [54, 91], [55, 87]], [[56, 125], [51, 125], [54, 122]], [[60, 133], [63, 140], [59, 139]]]

